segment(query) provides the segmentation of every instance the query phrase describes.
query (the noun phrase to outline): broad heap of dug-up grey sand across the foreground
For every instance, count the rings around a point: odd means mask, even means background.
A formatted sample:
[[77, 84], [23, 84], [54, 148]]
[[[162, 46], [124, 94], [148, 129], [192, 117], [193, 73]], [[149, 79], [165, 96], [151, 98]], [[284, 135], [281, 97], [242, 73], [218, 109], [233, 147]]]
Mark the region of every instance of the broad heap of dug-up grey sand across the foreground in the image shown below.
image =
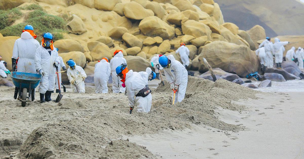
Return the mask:
[[[65, 158], [65, 156], [94, 158], [105, 156], [109, 152], [121, 155], [116, 158], [129, 158], [128, 153], [118, 153], [120, 151], [115, 149], [110, 149], [106, 153], [105, 147], [109, 148], [109, 143], [111, 141], [113, 143], [113, 140], [122, 135], [153, 134], [168, 128], [182, 130], [191, 128], [193, 123], [225, 131], [242, 130], [243, 127], [220, 121], [214, 116], [214, 110], [218, 107], [245, 110], [244, 106], [232, 104], [231, 101], [255, 98], [254, 94], [257, 93], [250, 88], [222, 79], [212, 82], [189, 77], [186, 99], [173, 106], [169, 87], [166, 83], [165, 86], [159, 86], [152, 92], [153, 102], [150, 113], [138, 113], [135, 109], [130, 115], [126, 95], [112, 93], [65, 93], [58, 104], [53, 102], [40, 104], [36, 101], [25, 108], [10, 107], [6, 111], [10, 115], [0, 117], [0, 121], [5, 121], [3, 126], [0, 124], [0, 133], [8, 127], [8, 123], [13, 123], [9, 131], [15, 133], [11, 136], [8, 133], [6, 137], [18, 137], [20, 133], [30, 133], [33, 130], [29, 137], [21, 139], [23, 144], [18, 154], [19, 158], [47, 158], [52, 155], [55, 155], [52, 156], [53, 158]], [[12, 92], [4, 94], [5, 97], [10, 95]], [[1, 107], [5, 109], [9, 107], [5, 105], [19, 104], [17, 101], [1, 102]], [[11, 116], [17, 117], [12, 119]], [[24, 116], [27, 116], [26, 120]], [[22, 122], [18, 123], [16, 120]], [[117, 144], [128, 147], [127, 145], [131, 143], [120, 141]], [[14, 148], [16, 147], [6, 147], [6, 153]], [[143, 148], [134, 148], [132, 155], [135, 154], [154, 157]], [[130, 158], [140, 158], [140, 156]]]

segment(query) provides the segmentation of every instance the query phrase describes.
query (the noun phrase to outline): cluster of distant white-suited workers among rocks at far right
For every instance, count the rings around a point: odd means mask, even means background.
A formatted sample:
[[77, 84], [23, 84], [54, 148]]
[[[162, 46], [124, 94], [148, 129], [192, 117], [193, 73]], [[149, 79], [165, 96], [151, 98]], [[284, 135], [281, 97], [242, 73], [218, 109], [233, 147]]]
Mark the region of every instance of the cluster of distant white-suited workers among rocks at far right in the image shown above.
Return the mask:
[[[284, 45], [289, 43], [288, 41], [281, 42], [278, 38], [275, 38], [275, 43], [272, 43], [270, 40], [269, 37], [266, 37], [266, 40], [264, 40], [255, 51], [256, 55], [260, 57], [262, 72], [264, 72], [266, 68], [273, 68], [274, 57], [277, 68], [282, 68], [283, 53], [285, 51]], [[304, 69], [303, 59], [304, 50], [301, 47], [299, 47], [297, 51], [295, 51], [295, 47], [292, 47], [287, 51], [285, 56], [286, 61], [296, 62], [300, 69]]]

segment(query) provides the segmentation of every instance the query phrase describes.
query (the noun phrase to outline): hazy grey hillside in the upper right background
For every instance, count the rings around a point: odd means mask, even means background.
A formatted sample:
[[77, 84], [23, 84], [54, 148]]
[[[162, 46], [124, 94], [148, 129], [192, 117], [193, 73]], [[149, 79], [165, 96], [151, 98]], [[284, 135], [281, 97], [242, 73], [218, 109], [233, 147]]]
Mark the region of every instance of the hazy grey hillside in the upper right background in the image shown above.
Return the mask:
[[233, 22], [242, 30], [263, 26], [266, 35], [303, 35], [304, 5], [297, 0], [216, 0], [225, 22]]

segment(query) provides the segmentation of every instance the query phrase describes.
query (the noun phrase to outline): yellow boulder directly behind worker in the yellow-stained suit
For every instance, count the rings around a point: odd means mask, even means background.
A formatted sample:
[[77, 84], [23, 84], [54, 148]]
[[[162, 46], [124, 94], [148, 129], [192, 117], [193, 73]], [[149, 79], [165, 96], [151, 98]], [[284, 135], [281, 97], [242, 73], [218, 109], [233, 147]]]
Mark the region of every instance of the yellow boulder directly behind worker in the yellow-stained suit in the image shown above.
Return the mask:
[[71, 51], [68, 53], [60, 53], [59, 56], [62, 57], [62, 60], [67, 68], [69, 66], [65, 62], [70, 60], [71, 58], [75, 61], [75, 63], [77, 65], [81, 66], [82, 68], [85, 67], [85, 64], [86, 64], [85, 54], [80, 51]]

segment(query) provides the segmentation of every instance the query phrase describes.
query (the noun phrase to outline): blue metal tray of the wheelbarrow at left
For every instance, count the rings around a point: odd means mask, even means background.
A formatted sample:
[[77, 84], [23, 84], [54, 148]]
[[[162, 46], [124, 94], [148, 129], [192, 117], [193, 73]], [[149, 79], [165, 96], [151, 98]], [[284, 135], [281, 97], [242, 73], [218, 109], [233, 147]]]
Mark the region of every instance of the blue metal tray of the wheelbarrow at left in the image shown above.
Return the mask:
[[42, 76], [33, 73], [12, 72], [11, 78], [16, 87], [21, 88], [21, 90], [27, 88], [27, 92], [29, 92], [30, 89], [34, 89], [39, 85]]

